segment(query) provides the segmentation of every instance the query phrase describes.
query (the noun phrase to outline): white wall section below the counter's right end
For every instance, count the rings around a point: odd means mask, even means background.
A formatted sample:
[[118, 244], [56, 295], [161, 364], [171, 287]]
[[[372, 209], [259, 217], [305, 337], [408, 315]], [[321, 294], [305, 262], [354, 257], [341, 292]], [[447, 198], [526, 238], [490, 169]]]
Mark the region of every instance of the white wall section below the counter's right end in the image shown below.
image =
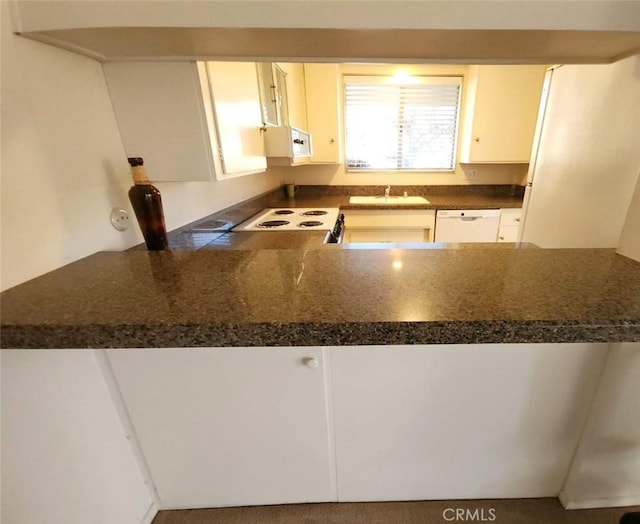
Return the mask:
[[640, 504], [640, 343], [612, 344], [560, 499], [568, 509]]

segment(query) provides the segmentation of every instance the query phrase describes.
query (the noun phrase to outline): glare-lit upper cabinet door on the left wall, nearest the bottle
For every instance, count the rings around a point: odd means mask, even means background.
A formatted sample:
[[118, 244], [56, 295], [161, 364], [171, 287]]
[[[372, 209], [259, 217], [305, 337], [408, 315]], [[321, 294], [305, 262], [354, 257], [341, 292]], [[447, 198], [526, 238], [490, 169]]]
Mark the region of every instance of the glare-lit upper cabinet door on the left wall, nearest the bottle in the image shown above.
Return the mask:
[[265, 171], [258, 75], [254, 62], [207, 62], [223, 175]]

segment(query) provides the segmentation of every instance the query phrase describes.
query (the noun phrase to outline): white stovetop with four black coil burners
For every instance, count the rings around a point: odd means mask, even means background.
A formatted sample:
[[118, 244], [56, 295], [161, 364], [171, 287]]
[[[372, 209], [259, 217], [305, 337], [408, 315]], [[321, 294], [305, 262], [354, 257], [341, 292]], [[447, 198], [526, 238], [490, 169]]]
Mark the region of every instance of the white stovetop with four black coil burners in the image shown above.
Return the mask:
[[331, 231], [338, 219], [338, 212], [338, 208], [264, 209], [232, 231]]

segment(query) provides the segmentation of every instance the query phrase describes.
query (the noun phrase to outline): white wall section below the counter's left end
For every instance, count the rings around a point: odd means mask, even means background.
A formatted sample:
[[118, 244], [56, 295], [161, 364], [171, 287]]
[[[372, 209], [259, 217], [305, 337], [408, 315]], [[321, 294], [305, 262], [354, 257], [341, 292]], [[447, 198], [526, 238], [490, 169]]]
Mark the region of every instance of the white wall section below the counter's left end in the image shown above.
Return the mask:
[[93, 350], [2, 351], [3, 524], [155, 515]]

